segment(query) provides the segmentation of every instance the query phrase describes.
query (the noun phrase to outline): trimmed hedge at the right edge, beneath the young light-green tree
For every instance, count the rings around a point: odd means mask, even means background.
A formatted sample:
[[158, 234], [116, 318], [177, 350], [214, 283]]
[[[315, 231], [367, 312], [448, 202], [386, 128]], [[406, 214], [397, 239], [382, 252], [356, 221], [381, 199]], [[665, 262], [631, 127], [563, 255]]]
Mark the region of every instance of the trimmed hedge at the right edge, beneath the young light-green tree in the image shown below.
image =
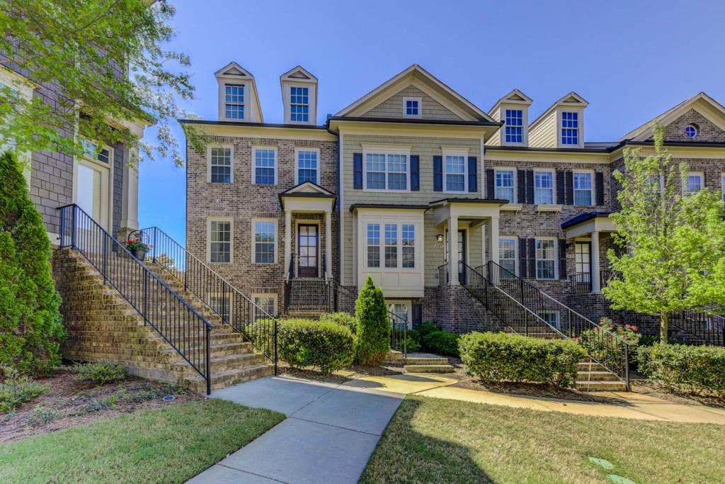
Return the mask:
[[725, 396], [725, 348], [720, 346], [641, 346], [637, 363], [639, 372], [667, 390]]

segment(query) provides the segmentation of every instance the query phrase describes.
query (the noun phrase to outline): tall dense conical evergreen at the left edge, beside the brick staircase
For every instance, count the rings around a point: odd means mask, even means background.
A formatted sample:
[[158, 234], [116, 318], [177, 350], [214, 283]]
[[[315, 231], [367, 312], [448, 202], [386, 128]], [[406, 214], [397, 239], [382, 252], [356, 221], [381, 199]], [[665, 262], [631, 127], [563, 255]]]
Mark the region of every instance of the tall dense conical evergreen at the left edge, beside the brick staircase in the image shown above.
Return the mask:
[[10, 152], [0, 156], [0, 180], [0, 366], [46, 374], [65, 337], [50, 241]]

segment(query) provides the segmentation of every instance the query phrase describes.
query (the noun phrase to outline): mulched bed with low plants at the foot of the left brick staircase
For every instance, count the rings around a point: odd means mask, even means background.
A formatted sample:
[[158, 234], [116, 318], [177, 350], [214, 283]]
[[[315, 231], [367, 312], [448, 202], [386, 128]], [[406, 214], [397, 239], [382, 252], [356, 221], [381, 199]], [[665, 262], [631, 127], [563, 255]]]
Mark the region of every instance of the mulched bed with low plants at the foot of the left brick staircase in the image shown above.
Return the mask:
[[[0, 443], [12, 442], [29, 435], [55, 432], [140, 409], [204, 399], [204, 395], [182, 387], [137, 377], [98, 385], [78, 382], [75, 374], [60, 370], [53, 377], [37, 381], [48, 385], [46, 393], [9, 414], [0, 414]], [[167, 395], [173, 395], [174, 401], [162, 401]]]

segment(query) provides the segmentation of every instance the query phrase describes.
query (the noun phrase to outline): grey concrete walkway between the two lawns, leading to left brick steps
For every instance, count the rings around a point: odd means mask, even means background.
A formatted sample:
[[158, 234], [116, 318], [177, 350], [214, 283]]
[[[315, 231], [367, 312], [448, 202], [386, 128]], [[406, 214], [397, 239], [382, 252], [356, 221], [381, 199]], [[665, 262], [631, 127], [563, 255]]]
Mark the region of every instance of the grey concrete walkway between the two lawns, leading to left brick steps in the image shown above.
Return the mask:
[[354, 484], [405, 394], [267, 377], [212, 398], [287, 418], [189, 483]]

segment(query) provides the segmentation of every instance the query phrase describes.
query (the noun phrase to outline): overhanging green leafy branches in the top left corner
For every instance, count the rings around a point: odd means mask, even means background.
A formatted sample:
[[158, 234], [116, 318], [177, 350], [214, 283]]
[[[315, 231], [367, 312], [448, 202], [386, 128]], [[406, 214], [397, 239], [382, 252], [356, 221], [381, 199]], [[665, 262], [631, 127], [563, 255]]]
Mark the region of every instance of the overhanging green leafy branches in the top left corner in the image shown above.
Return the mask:
[[[192, 99], [194, 88], [183, 72], [188, 56], [162, 47], [174, 36], [173, 15], [166, 0], [4, 0], [0, 65], [20, 69], [57, 100], [28, 100], [18, 86], [2, 87], [0, 144], [80, 154], [77, 128], [88, 139], [123, 142], [149, 158], [170, 154], [183, 165], [170, 120], [191, 117], [177, 99]], [[156, 146], [109, 119], [153, 120]], [[201, 142], [186, 130], [193, 144]]]

